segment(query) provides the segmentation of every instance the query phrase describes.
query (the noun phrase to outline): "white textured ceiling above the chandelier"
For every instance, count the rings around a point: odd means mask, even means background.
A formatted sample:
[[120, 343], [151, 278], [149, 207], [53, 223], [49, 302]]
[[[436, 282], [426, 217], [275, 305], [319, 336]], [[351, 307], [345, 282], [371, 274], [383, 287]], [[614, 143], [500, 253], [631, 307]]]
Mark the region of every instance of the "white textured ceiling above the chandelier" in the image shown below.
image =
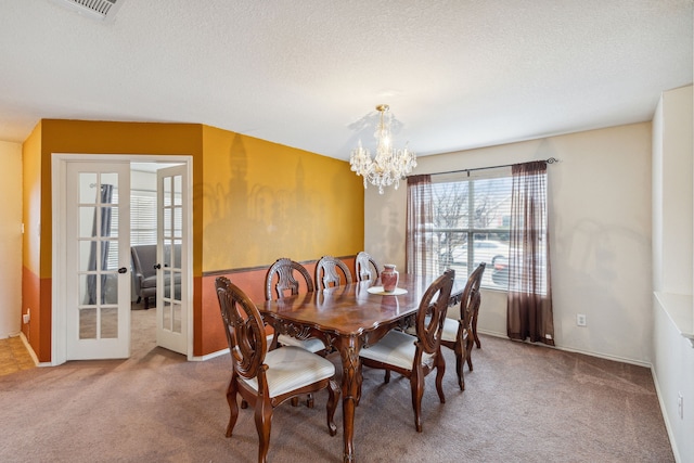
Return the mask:
[[651, 120], [692, 0], [0, 0], [0, 140], [41, 118], [198, 123], [347, 159], [375, 105], [417, 155]]

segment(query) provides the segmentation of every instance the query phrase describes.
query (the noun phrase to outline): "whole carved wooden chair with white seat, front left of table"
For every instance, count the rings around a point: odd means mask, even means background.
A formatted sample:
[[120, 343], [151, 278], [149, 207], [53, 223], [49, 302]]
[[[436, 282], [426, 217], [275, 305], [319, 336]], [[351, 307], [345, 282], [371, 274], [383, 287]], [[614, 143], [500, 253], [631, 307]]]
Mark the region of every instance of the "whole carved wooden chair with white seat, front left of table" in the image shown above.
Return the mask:
[[274, 408], [298, 395], [323, 389], [329, 394], [327, 430], [335, 436], [334, 415], [340, 395], [335, 365], [299, 347], [268, 351], [262, 318], [255, 304], [226, 276], [217, 278], [215, 286], [233, 366], [227, 388], [230, 410], [227, 437], [232, 436], [239, 417], [240, 395], [255, 410], [258, 461], [266, 462]]

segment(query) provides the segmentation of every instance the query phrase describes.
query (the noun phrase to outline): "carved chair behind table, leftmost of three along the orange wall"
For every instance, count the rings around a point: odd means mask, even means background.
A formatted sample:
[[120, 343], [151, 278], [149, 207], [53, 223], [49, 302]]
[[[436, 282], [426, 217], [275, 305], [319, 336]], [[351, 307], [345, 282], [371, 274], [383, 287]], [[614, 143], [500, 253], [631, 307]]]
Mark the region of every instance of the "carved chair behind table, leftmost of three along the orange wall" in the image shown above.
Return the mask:
[[[298, 274], [305, 285], [308, 293], [313, 292], [313, 280], [311, 274], [306, 270], [306, 267], [299, 262], [282, 257], [272, 263], [268, 269], [268, 273], [265, 278], [265, 298], [271, 300], [272, 296], [277, 296], [278, 299], [282, 299], [287, 295], [299, 294], [299, 282], [295, 274]], [[288, 293], [288, 294], [287, 294]], [[322, 340], [314, 337], [307, 339], [299, 339], [287, 334], [280, 334], [275, 332], [274, 339], [272, 340], [273, 347], [278, 344], [283, 346], [296, 346], [306, 349], [310, 352], [320, 353], [325, 356], [327, 353], [325, 344]]]

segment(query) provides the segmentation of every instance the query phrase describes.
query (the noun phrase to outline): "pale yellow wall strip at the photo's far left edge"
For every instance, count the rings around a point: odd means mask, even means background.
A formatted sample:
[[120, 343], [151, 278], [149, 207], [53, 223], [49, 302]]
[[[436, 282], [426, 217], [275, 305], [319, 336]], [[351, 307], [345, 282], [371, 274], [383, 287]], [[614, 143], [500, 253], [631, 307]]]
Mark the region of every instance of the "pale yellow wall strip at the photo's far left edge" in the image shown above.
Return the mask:
[[22, 144], [0, 141], [0, 338], [22, 326]]

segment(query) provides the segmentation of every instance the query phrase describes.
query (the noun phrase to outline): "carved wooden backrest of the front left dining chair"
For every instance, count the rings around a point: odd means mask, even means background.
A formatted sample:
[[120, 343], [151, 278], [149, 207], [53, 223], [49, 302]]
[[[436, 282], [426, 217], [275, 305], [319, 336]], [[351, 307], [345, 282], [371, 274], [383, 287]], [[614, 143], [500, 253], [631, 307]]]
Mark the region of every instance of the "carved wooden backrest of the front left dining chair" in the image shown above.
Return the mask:
[[[262, 362], [267, 339], [262, 318], [256, 305], [229, 279], [215, 282], [221, 317], [224, 321], [227, 342], [233, 372], [244, 378], [258, 377], [258, 387], [265, 385]], [[267, 385], [266, 385], [267, 386]]]

